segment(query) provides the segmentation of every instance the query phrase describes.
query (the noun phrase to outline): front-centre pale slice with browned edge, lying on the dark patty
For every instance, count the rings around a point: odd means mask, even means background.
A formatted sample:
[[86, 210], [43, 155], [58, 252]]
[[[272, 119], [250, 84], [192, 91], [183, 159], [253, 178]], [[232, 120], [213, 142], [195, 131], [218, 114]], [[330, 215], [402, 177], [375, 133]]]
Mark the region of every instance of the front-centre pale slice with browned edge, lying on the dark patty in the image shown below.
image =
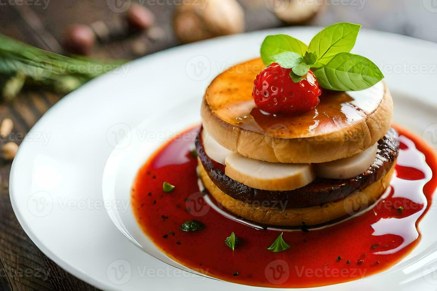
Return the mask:
[[252, 188], [286, 191], [308, 185], [316, 178], [311, 164], [284, 164], [253, 160], [232, 153], [226, 157], [225, 175]]

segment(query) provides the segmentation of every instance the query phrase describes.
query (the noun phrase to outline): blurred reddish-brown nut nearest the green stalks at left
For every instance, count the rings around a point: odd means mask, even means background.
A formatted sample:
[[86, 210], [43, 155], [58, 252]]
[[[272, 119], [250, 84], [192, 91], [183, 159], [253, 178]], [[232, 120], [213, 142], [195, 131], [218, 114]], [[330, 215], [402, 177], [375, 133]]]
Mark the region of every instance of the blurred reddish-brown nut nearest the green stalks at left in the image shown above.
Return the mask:
[[90, 27], [74, 24], [65, 31], [64, 48], [75, 54], [89, 55], [95, 39], [94, 31]]

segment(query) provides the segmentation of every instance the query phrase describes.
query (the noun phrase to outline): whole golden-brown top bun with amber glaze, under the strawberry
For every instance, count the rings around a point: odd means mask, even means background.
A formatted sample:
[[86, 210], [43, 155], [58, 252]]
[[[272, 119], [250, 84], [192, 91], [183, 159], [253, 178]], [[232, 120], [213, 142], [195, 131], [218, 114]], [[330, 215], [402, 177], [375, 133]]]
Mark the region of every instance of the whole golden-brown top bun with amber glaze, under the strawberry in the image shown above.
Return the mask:
[[230, 68], [212, 81], [202, 101], [203, 126], [233, 152], [269, 162], [321, 163], [364, 151], [390, 128], [393, 100], [385, 83], [367, 89], [368, 96], [323, 90], [315, 110], [267, 118], [253, 109], [252, 97], [263, 68], [260, 59]]

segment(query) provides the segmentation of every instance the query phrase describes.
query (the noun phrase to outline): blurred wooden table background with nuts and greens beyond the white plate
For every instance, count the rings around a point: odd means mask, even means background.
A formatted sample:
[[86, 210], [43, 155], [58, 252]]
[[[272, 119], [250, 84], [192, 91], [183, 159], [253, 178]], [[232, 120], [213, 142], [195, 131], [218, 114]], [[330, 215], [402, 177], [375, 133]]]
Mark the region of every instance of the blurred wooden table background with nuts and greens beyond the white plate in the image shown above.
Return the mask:
[[38, 250], [8, 196], [10, 163], [28, 130], [66, 93], [107, 71], [57, 66], [110, 70], [184, 43], [342, 21], [437, 42], [437, 0], [0, 0], [0, 290], [95, 290]]

